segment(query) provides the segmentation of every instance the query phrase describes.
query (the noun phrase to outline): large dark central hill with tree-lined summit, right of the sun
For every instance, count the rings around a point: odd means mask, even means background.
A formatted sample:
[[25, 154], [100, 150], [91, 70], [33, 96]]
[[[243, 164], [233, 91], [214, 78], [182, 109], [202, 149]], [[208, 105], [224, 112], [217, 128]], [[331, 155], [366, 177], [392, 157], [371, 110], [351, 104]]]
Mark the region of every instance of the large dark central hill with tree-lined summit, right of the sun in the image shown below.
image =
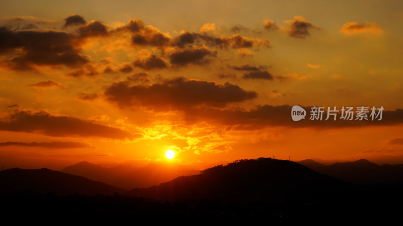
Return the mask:
[[296, 201], [328, 196], [347, 186], [295, 162], [259, 158], [216, 166], [150, 188], [135, 188], [124, 195], [157, 200]]

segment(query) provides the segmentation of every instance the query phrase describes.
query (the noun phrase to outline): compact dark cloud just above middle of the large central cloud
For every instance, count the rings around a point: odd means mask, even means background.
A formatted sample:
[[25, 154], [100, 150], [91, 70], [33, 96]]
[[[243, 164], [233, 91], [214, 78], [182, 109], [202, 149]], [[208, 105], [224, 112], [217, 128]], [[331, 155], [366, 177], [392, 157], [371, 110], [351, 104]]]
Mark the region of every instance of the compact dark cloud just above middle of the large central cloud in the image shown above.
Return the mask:
[[186, 48], [178, 50], [169, 56], [171, 64], [185, 66], [187, 64], [205, 64], [216, 57], [217, 52], [206, 47]]

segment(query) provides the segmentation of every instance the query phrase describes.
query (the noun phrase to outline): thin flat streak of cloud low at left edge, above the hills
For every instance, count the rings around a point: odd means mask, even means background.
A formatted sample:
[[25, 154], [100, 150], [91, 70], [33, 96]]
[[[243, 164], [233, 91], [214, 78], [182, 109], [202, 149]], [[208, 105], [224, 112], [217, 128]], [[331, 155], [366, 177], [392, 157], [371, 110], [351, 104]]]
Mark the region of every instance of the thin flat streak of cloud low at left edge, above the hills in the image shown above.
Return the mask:
[[52, 141], [52, 142], [1, 142], [0, 147], [7, 146], [24, 146], [24, 147], [41, 147], [48, 149], [68, 149], [68, 148], [90, 148], [91, 146], [81, 142], [64, 142], [64, 141]]

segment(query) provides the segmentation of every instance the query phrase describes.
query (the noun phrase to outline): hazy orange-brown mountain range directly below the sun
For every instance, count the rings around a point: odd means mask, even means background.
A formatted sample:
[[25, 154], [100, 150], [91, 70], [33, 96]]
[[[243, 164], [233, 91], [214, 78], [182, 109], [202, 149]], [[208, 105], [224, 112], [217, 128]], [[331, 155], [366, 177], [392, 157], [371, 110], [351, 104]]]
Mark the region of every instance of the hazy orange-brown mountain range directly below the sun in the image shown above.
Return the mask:
[[158, 185], [178, 176], [198, 174], [199, 170], [187, 170], [175, 164], [151, 163], [145, 167], [119, 165], [106, 168], [89, 162], [80, 162], [62, 169], [61, 172], [102, 181], [115, 187], [132, 189]]

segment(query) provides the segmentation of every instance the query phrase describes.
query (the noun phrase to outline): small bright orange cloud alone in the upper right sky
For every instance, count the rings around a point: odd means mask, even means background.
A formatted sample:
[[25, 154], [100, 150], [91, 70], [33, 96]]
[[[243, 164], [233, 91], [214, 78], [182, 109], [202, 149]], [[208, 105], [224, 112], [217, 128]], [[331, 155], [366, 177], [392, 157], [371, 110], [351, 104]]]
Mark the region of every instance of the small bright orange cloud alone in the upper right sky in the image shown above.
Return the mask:
[[382, 34], [383, 30], [373, 22], [365, 22], [363, 24], [358, 24], [357, 22], [348, 22], [343, 25], [339, 32], [345, 35], [378, 35]]

